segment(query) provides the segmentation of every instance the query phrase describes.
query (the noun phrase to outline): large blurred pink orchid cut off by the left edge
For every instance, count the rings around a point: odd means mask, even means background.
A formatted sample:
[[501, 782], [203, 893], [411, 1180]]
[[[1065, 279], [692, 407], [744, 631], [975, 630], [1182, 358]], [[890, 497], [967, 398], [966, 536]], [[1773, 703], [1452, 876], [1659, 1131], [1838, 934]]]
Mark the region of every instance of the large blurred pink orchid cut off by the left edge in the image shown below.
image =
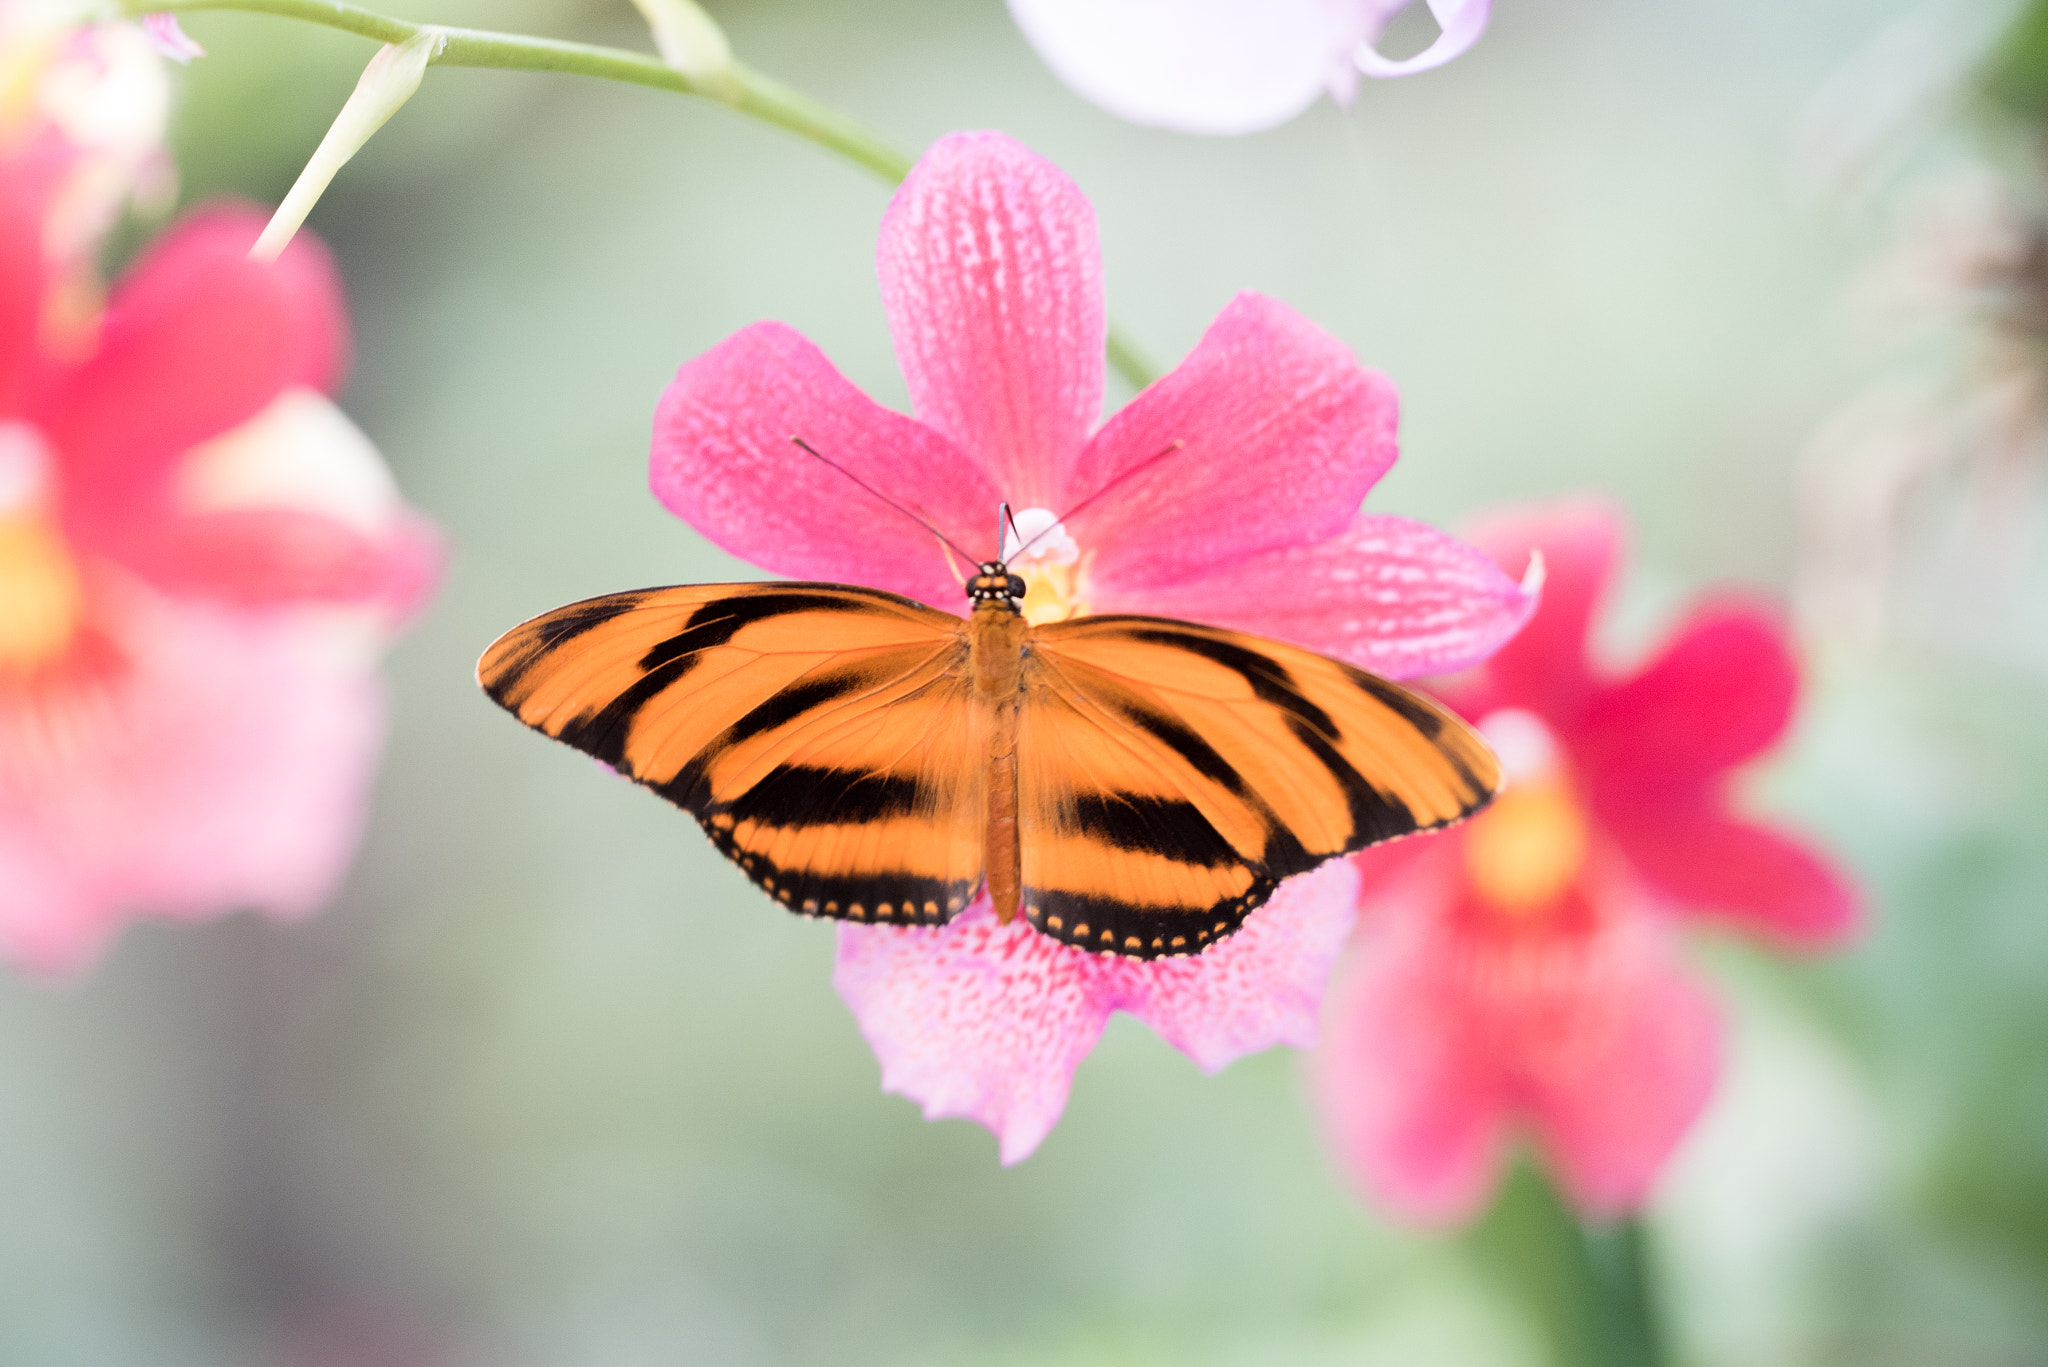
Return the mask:
[[319, 906], [436, 549], [324, 398], [326, 254], [201, 213], [92, 309], [39, 148], [0, 160], [0, 955], [63, 971], [139, 912]]

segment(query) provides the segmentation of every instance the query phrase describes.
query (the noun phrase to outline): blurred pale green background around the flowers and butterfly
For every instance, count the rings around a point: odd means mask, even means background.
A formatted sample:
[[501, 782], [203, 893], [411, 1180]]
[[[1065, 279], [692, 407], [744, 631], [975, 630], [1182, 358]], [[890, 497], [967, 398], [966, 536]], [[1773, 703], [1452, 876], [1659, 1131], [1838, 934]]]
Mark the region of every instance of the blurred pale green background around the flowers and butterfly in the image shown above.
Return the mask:
[[[1608, 490], [1636, 525], [1626, 654], [1704, 584], [1788, 590], [1796, 457], [1894, 363], [1845, 293], [1896, 193], [1800, 152], [1855, 143], [1845, 64], [1923, 35], [1925, 98], [1864, 129], [1911, 184], [1970, 156], [1985, 115], [1942, 74], [2005, 6], [1501, 0], [1454, 66], [1235, 141], [1085, 107], [999, 0], [711, 10], [901, 148], [999, 127], [1063, 166], [1157, 363], [1247, 287], [1335, 332], [1405, 402], [1376, 508]], [[393, 12], [647, 45], [625, 0]], [[371, 45], [188, 29], [186, 199], [274, 203]], [[1118, 1019], [1001, 1170], [981, 1129], [879, 1092], [827, 928], [475, 691], [481, 646], [541, 609], [750, 576], [645, 492], [678, 363], [780, 318], [903, 406], [885, 203], [725, 111], [508, 72], [430, 72], [340, 174], [311, 227], [356, 318], [344, 406], [446, 529], [449, 578], [393, 652], [334, 908], [145, 924], [82, 982], [0, 982], [0, 1359], [1587, 1361], [1542, 1191], [1462, 1234], [1384, 1224], [1286, 1051], [1202, 1078]], [[1882, 650], [1817, 641], [1759, 775], [1872, 922], [1819, 963], [1700, 943], [1731, 1068], [1651, 1213], [1686, 1363], [2048, 1363], [2048, 592], [2038, 555], [2015, 576]]]

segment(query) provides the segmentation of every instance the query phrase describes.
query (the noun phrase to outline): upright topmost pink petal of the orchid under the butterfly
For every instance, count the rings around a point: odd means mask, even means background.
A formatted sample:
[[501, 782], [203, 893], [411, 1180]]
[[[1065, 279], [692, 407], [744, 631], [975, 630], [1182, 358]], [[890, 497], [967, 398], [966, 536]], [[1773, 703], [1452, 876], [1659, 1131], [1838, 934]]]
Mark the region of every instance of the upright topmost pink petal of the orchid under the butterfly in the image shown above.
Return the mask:
[[1061, 502], [1108, 334], [1081, 191], [1001, 133], [940, 137], [889, 201], [877, 268], [915, 414], [1010, 502]]

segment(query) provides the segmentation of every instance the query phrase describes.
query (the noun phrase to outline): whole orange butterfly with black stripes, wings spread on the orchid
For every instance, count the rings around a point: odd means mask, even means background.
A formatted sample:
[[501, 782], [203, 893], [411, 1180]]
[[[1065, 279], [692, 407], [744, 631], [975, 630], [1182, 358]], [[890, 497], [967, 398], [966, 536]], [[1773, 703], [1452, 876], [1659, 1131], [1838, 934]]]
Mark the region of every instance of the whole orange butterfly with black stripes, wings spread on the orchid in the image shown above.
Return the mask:
[[999, 562], [967, 621], [846, 584], [705, 584], [545, 613], [477, 664], [520, 721], [690, 812], [791, 910], [1001, 920], [1200, 953], [1280, 879], [1462, 820], [1499, 785], [1399, 685], [1161, 617], [1030, 625]]

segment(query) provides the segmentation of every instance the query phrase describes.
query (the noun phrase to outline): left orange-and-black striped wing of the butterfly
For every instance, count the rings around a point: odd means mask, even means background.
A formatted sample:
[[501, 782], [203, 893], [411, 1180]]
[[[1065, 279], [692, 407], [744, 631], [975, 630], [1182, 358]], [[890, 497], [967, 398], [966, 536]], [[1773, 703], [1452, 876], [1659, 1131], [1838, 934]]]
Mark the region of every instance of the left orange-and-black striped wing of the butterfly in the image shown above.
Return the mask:
[[694, 816], [795, 912], [948, 920], [981, 881], [958, 617], [844, 584], [645, 588], [514, 627], [477, 682]]

